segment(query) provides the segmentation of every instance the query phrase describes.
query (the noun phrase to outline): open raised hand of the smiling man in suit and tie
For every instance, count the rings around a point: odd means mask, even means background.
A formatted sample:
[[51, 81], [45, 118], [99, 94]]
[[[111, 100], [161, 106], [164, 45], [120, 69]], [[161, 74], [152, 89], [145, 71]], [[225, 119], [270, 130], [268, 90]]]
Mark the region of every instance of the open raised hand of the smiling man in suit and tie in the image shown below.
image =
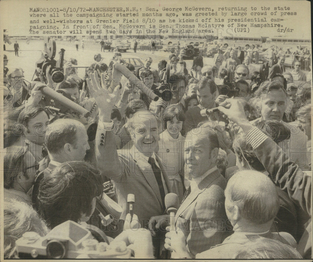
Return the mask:
[[116, 86], [113, 93], [110, 94], [105, 85], [105, 74], [101, 74], [101, 83], [98, 78], [98, 72], [89, 74], [90, 79], [87, 80], [87, 85], [90, 91], [90, 95], [95, 98], [95, 102], [99, 107], [99, 120], [102, 122], [110, 122], [110, 116], [113, 106], [119, 99], [118, 90], [120, 86]]

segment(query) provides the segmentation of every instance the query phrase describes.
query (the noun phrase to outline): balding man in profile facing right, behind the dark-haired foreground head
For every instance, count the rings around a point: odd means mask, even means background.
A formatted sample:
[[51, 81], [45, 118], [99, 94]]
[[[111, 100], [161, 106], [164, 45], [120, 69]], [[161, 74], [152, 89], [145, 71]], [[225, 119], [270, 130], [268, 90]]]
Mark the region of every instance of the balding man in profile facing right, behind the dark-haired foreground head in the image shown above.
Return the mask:
[[40, 181], [55, 167], [67, 161], [82, 161], [86, 150], [90, 149], [85, 126], [77, 120], [58, 119], [49, 124], [45, 135], [45, 145], [50, 162], [38, 174], [32, 190], [33, 207], [38, 210], [38, 190]]

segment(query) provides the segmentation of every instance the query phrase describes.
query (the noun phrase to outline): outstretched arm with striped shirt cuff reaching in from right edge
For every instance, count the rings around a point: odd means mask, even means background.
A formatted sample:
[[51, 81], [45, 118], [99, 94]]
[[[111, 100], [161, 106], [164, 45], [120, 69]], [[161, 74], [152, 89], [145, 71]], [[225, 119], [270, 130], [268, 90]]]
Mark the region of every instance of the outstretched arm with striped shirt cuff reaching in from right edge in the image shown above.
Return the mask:
[[[229, 109], [224, 108], [231, 104]], [[269, 178], [280, 188], [288, 193], [296, 207], [309, 216], [307, 228], [298, 244], [298, 251], [304, 258], [311, 258], [312, 254], [312, 178], [306, 175], [298, 165], [290, 161], [277, 144], [264, 134], [259, 128], [254, 127], [244, 117], [243, 107], [233, 99], [226, 99], [219, 107], [228, 118], [243, 129], [260, 162], [269, 172]], [[299, 215], [299, 213], [298, 213]]]

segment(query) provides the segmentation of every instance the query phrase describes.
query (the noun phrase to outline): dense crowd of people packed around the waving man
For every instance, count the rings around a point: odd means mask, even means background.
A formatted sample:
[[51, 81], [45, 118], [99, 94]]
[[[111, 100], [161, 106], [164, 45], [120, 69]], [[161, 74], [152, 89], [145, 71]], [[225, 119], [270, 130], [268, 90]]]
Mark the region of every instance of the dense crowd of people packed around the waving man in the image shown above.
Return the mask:
[[49, 67], [28, 82], [4, 57], [5, 258], [18, 256], [25, 232], [44, 236], [68, 220], [99, 242], [131, 244], [135, 258], [312, 258], [312, 83], [302, 61], [286, 72], [283, 55], [269, 56], [264, 77], [252, 47], [219, 50], [210, 65], [197, 56], [190, 71], [185, 52], [157, 69], [148, 56], [135, 69], [117, 50], [108, 65], [98, 54], [82, 78], [71, 58], [60, 83]]

